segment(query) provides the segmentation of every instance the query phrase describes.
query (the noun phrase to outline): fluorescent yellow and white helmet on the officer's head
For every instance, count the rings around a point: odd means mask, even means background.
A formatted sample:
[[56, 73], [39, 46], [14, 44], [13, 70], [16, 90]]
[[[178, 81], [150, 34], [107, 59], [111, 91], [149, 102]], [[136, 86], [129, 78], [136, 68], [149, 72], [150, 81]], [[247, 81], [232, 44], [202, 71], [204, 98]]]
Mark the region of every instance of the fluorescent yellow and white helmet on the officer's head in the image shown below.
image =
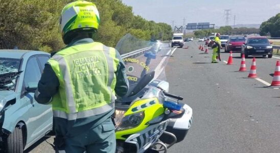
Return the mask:
[[67, 4], [61, 11], [59, 20], [62, 39], [69, 32], [95, 32], [100, 18], [96, 5], [86, 1]]

